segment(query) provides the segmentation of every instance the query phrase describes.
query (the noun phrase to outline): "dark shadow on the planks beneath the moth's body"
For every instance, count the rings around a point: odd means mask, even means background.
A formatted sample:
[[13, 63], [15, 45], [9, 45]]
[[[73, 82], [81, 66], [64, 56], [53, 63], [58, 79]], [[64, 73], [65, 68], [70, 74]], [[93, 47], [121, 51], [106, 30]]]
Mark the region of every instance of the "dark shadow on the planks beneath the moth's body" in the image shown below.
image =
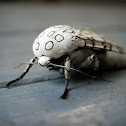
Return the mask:
[[[91, 75], [91, 76], [95, 76], [96, 78], [91, 78], [91, 77], [86, 77], [81, 73], [77, 73], [77, 72], [72, 72], [71, 75], [71, 83], [72, 83], [72, 87], [70, 88], [70, 90], [76, 89], [76, 88], [80, 88], [82, 86], [86, 86], [87, 84], [89, 85], [94, 85], [94, 83], [92, 83], [92, 81], [97, 81], [98, 83], [100, 83], [100, 85], [110, 85], [111, 82], [114, 82], [113, 78], [115, 76], [114, 73], [116, 72], [120, 72], [121, 70], [124, 70], [126, 68], [121, 68], [121, 69], [109, 69], [109, 70], [98, 70], [98, 71], [92, 71], [92, 70], [81, 70], [84, 71], [86, 74]], [[116, 77], [115, 77], [116, 78]], [[83, 84], [86, 83], [85, 84]], [[79, 83], [79, 84], [78, 84]]]

